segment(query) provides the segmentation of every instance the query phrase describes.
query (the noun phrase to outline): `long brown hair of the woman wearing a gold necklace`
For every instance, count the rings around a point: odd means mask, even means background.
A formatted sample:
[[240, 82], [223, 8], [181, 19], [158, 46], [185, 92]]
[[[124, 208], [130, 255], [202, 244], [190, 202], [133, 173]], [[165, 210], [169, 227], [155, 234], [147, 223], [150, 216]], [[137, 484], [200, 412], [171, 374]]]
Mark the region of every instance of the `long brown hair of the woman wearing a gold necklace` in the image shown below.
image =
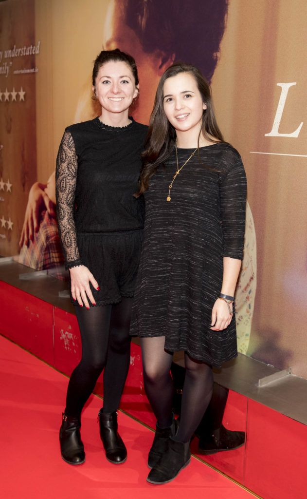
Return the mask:
[[[198, 135], [198, 147], [201, 134], [207, 140], [224, 142], [222, 133], [217, 125], [210, 85], [197, 67], [183, 62], [175, 62], [163, 73], [155, 93], [153, 112], [150, 117], [146, 150], [143, 153], [143, 168], [139, 181], [139, 191], [135, 197], [144, 194], [148, 189], [149, 180], [156, 172], [159, 165], [169, 157], [176, 145], [176, 131], [169, 123], [163, 108], [163, 86], [167, 78], [179, 73], [190, 73], [196, 81], [202, 101], [207, 108], [202, 113], [202, 125]], [[213, 139], [212, 139], [213, 137]]]

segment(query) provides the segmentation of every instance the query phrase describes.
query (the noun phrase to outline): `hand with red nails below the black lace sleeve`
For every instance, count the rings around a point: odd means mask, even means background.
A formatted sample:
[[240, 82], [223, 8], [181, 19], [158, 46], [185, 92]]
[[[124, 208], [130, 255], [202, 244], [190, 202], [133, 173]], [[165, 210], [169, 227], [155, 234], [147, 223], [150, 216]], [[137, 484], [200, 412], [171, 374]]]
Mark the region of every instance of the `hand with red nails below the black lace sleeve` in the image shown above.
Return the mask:
[[90, 288], [90, 282], [95, 289], [99, 290], [99, 285], [94, 275], [85, 265], [78, 265], [69, 269], [71, 278], [71, 295], [83, 307], [90, 308], [88, 298], [93, 305], [96, 305], [94, 296]]

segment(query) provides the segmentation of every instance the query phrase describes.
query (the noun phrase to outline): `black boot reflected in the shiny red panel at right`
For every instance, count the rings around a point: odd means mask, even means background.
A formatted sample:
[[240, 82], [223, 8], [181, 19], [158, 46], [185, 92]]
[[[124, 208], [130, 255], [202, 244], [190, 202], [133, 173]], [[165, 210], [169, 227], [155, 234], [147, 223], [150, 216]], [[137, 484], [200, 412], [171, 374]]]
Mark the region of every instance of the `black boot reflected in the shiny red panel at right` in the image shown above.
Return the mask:
[[199, 453], [204, 456], [217, 452], [238, 449], [245, 442], [245, 432], [233, 432], [223, 425], [209, 434], [203, 433], [199, 438]]

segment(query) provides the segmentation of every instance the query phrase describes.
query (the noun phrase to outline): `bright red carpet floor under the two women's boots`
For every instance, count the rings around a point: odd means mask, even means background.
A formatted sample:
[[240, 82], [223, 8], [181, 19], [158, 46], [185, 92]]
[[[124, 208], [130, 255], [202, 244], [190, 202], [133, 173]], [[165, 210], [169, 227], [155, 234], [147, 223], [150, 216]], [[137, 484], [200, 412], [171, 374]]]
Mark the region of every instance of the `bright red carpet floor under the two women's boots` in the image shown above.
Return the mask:
[[97, 425], [101, 400], [83, 413], [86, 462], [60, 458], [58, 428], [67, 378], [0, 336], [0, 491], [3, 499], [241, 499], [252, 495], [205, 464], [191, 464], [170, 484], [146, 482], [153, 432], [123, 413], [128, 460], [112, 465], [102, 452]]

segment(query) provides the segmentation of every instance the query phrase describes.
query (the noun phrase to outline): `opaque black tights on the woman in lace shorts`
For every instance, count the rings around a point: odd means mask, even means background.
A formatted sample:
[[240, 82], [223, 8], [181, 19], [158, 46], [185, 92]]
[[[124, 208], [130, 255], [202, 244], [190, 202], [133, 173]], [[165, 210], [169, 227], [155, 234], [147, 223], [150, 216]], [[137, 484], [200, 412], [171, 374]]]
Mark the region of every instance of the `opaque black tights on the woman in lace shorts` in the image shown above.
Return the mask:
[[76, 307], [82, 358], [68, 383], [65, 409], [68, 416], [80, 418], [103, 369], [104, 412], [118, 409], [130, 365], [131, 307], [132, 298], [89, 310]]

